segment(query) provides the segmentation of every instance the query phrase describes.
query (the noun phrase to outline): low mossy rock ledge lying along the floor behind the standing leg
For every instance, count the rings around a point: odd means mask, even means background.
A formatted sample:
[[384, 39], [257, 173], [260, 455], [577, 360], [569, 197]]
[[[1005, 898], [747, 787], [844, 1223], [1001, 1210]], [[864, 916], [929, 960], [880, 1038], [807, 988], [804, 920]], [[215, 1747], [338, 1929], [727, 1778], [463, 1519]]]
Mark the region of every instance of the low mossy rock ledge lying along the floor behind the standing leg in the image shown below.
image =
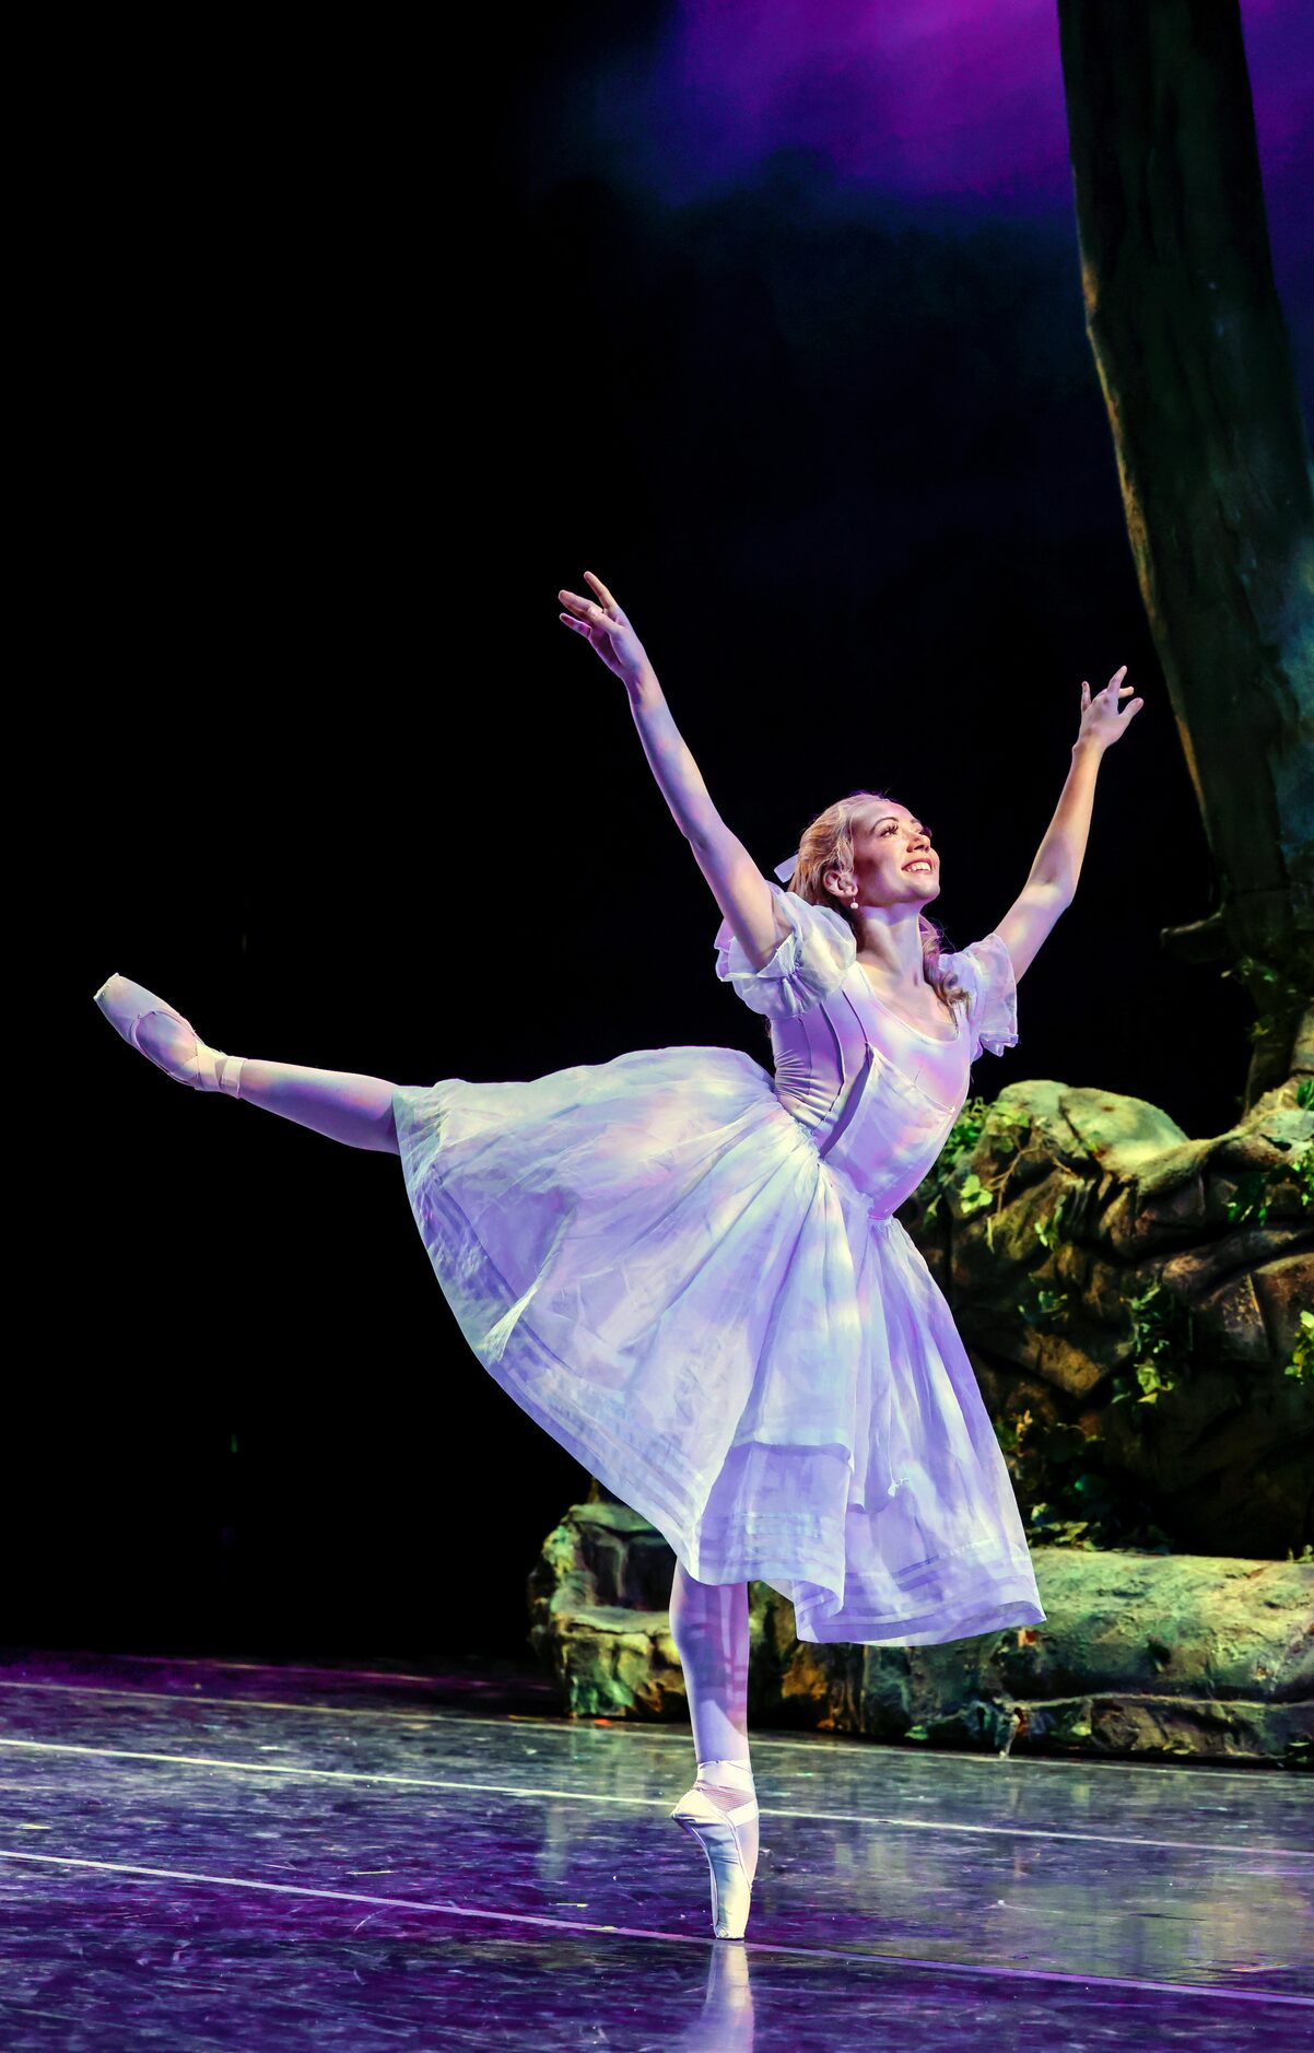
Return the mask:
[[[1035, 1548], [1043, 1626], [813, 1647], [749, 1585], [749, 1720], [981, 1753], [1314, 1759], [1314, 1566]], [[575, 1718], [684, 1720], [675, 1558], [597, 1495], [548, 1534], [530, 1640]]]

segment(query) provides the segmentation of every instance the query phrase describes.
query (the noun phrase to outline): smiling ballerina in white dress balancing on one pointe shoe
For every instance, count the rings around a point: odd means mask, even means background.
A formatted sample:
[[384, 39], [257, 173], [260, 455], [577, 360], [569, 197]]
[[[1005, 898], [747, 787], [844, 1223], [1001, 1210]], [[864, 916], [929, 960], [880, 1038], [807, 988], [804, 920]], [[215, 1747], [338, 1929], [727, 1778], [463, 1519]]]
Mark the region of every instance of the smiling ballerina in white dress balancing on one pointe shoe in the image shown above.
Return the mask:
[[[1027, 1538], [949, 1304], [895, 1217], [944, 1148], [1016, 981], [1076, 891], [1105, 749], [1139, 698], [1080, 692], [1031, 875], [951, 953], [930, 827], [858, 790], [764, 877], [725, 825], [630, 620], [585, 573], [561, 620], [622, 680], [653, 776], [723, 914], [717, 975], [772, 1074], [725, 1047], [636, 1049], [530, 1082], [431, 1086], [232, 1057], [113, 975], [111, 1024], [177, 1082], [394, 1152], [437, 1281], [501, 1388], [675, 1554], [671, 1636], [717, 1938], [758, 1864], [747, 1585], [801, 1640], [940, 1644], [1039, 1624]], [[788, 889], [784, 889], [788, 885]]]

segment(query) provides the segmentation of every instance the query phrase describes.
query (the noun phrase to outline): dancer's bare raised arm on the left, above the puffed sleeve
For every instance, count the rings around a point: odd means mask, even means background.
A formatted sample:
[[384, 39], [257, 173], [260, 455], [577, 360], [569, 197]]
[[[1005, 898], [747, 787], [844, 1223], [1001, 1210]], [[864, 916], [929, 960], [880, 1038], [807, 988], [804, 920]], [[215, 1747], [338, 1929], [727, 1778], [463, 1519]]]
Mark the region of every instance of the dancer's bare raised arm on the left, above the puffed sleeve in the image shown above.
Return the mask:
[[712, 805], [702, 772], [671, 719], [657, 671], [628, 618], [600, 577], [591, 571], [583, 575], [593, 587], [593, 597], [558, 591], [556, 597], [569, 608], [558, 618], [575, 634], [583, 634], [608, 669], [622, 680], [661, 797], [749, 963], [762, 969], [788, 932], [776, 914], [776, 895], [739, 836], [731, 834]]

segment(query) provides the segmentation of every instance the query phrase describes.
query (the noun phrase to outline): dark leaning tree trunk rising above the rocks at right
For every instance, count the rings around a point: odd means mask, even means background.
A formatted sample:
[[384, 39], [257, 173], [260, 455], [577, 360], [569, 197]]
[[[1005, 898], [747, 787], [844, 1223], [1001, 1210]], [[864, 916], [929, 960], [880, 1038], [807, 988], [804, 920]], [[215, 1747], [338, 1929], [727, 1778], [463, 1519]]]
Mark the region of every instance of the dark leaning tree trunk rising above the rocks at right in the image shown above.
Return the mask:
[[1246, 1109], [1314, 1035], [1314, 487], [1236, 0], [1059, 0], [1086, 331], [1218, 905]]

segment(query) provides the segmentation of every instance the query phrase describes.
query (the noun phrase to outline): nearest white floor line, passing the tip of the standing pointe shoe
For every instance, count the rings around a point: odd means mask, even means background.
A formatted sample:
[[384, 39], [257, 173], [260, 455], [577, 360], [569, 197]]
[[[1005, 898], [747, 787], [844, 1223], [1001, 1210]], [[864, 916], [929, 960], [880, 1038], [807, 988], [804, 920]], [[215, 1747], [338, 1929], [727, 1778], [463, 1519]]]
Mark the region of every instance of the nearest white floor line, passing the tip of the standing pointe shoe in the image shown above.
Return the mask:
[[[497, 1924], [546, 1926], [548, 1932], [595, 1932], [608, 1938], [665, 1940], [680, 1946], [717, 1946], [714, 1938], [698, 1938], [694, 1932], [651, 1932], [643, 1926], [587, 1924], [581, 1918], [540, 1918], [534, 1911], [485, 1911], [466, 1903], [425, 1903], [411, 1897], [368, 1897], [353, 1889], [308, 1889], [302, 1883], [261, 1883], [246, 1874], [195, 1874], [187, 1868], [146, 1868], [127, 1860], [80, 1860], [72, 1854], [18, 1854], [0, 1848], [0, 1860], [29, 1860], [51, 1868], [92, 1868], [99, 1874], [146, 1874], [162, 1883], [209, 1883], [218, 1889], [265, 1889], [283, 1897], [324, 1897], [331, 1903], [368, 1903], [374, 1909], [425, 1911], [437, 1918], [487, 1918]], [[1061, 1981], [1080, 1983], [1086, 1989], [1148, 1989], [1154, 1996], [1193, 1996], [1205, 2002], [1228, 2004], [1287, 2004], [1296, 2010], [1314, 2010], [1310, 1996], [1285, 1996], [1267, 1989], [1224, 1989], [1213, 1983], [1195, 1981], [1142, 1981], [1131, 1975], [1066, 1973], [1055, 1967], [998, 1967], [994, 1963], [971, 1965], [967, 1961], [920, 1959], [905, 1952], [844, 1952], [838, 1946], [782, 1946], [766, 1940], [745, 1938], [747, 1952], [805, 1954], [809, 1961], [850, 1961], [862, 1967], [916, 1967], [936, 1975], [998, 1975], [1008, 1981]]]

